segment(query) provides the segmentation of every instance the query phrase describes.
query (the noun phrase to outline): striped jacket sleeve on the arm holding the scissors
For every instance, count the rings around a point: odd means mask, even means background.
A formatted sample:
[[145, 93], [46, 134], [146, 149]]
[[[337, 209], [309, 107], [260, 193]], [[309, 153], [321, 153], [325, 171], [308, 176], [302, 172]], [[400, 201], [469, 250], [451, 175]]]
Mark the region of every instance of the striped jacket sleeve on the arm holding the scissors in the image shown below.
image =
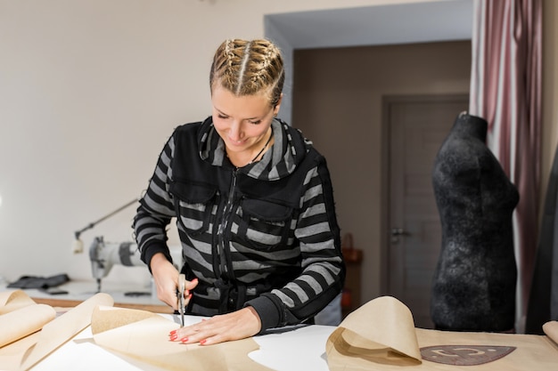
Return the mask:
[[168, 261], [172, 262], [167, 245], [167, 226], [175, 215], [174, 201], [168, 192], [173, 153], [174, 134], [160, 153], [152, 179], [149, 181], [144, 197], [140, 199], [140, 206], [137, 208], [133, 222], [141, 259], [150, 271], [150, 262], [154, 254], [163, 253]]

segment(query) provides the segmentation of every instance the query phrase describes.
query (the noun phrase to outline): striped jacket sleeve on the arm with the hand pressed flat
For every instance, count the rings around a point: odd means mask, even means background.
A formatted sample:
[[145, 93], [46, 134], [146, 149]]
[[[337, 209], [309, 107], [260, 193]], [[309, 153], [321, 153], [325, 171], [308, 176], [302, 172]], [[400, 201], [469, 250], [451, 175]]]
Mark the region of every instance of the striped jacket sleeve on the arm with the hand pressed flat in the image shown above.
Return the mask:
[[282, 288], [247, 302], [258, 311], [262, 331], [314, 317], [341, 292], [344, 285], [340, 229], [324, 157], [308, 173], [304, 187], [295, 230], [300, 244], [302, 272]]

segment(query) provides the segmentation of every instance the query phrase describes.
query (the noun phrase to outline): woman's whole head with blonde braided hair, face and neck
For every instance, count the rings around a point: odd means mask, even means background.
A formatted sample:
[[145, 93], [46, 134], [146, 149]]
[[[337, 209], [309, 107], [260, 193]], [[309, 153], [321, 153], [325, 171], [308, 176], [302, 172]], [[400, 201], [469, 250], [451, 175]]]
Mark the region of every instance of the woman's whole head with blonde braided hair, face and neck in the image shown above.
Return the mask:
[[213, 125], [233, 165], [258, 161], [273, 144], [283, 82], [283, 57], [270, 41], [228, 39], [217, 48], [209, 72]]

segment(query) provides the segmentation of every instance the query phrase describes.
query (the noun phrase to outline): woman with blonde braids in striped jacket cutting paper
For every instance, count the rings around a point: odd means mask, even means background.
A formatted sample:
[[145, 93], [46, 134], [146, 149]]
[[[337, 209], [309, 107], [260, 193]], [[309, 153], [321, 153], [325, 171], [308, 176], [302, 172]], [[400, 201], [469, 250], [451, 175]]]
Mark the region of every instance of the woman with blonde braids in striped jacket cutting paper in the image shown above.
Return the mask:
[[275, 118], [283, 58], [267, 40], [226, 40], [209, 85], [212, 115], [176, 128], [134, 228], [159, 299], [177, 309], [166, 227], [176, 216], [187, 312], [211, 317], [170, 334], [213, 344], [313, 318], [341, 292], [341, 256], [325, 159]]

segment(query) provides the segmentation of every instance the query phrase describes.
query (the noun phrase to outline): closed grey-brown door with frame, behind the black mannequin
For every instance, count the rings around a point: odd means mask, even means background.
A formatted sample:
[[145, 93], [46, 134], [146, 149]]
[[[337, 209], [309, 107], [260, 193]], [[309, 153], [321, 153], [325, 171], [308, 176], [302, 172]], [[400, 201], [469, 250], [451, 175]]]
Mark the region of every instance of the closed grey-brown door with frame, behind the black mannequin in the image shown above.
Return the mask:
[[467, 95], [384, 98], [389, 135], [389, 205], [385, 252], [388, 294], [412, 311], [416, 327], [432, 328], [431, 280], [439, 258], [441, 227], [432, 189], [434, 159]]

